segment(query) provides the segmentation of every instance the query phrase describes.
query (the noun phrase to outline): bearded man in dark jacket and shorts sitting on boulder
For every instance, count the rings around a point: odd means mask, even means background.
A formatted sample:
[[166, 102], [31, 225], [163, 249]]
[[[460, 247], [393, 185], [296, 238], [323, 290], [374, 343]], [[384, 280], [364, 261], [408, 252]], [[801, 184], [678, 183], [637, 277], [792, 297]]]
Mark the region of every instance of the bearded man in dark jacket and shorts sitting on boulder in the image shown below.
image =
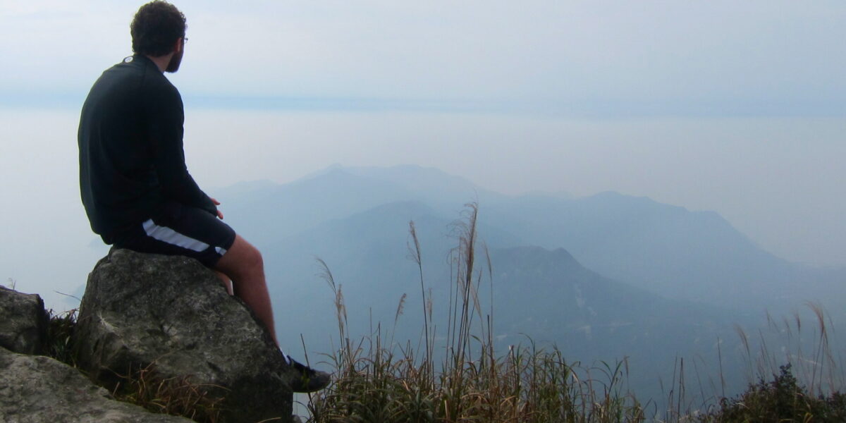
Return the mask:
[[[133, 56], [103, 72], [82, 107], [80, 189], [91, 228], [106, 244], [143, 253], [187, 255], [214, 269], [270, 332], [273, 311], [261, 253], [220, 219], [220, 203], [185, 167], [184, 110], [164, 72], [185, 51], [185, 17], [172, 4], [142, 6], [130, 25]], [[228, 288], [229, 289], [229, 288]], [[326, 387], [329, 375], [302, 372], [294, 392]]]

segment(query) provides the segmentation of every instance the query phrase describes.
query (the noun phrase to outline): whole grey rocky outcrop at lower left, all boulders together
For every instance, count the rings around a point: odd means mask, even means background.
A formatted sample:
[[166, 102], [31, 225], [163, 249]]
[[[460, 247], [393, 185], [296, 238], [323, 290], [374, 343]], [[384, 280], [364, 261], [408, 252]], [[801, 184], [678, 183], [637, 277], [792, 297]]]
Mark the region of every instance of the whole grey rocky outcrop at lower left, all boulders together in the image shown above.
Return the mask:
[[289, 382], [299, 374], [250, 310], [192, 259], [113, 250], [97, 263], [72, 341], [84, 372], [33, 355], [45, 351], [47, 326], [39, 296], [0, 287], [0, 423], [190, 421], [114, 400], [110, 393], [132, 385], [125, 376], [139, 374], [151, 386], [177, 381], [190, 398], [220, 398], [217, 421], [298, 421]]

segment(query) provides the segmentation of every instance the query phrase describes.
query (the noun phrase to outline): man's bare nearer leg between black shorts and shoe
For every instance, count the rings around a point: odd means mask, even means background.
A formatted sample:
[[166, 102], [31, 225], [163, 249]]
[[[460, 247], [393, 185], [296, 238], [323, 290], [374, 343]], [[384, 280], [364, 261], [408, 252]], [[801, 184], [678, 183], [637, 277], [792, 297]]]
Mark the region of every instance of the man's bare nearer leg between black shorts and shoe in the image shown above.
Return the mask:
[[235, 242], [220, 261], [217, 261], [215, 270], [232, 279], [235, 296], [253, 310], [278, 346], [279, 341], [273, 326], [273, 308], [264, 274], [264, 261], [259, 250], [240, 235], [235, 235]]

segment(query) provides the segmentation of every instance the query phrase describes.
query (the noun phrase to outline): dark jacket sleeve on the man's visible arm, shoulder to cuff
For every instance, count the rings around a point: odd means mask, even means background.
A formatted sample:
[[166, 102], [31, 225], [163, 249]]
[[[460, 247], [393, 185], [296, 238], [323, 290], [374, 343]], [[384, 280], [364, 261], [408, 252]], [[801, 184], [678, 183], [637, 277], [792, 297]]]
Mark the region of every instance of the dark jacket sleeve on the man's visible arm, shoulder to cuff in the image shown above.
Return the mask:
[[182, 144], [184, 110], [179, 91], [167, 83], [154, 87], [146, 94], [146, 132], [150, 137], [162, 195], [217, 216], [217, 206], [200, 190], [185, 166]]

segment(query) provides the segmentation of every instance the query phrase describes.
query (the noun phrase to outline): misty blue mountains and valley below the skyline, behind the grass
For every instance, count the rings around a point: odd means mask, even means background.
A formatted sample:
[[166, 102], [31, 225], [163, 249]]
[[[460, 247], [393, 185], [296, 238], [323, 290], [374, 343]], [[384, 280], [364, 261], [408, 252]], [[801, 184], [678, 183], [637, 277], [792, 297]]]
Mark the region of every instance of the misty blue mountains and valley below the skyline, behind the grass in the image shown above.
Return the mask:
[[333, 166], [213, 194], [264, 255], [281, 342], [302, 349], [302, 339], [312, 362], [342, 343], [327, 270], [349, 338], [420, 351], [426, 323], [443, 360], [472, 202], [470, 324], [490, 329], [497, 354], [559, 349], [586, 369], [622, 364], [627, 389], [659, 407], [679, 390], [694, 407], [733, 395], [788, 361], [798, 376], [825, 367], [842, 386], [832, 368], [841, 357], [830, 353], [842, 350], [833, 332], [846, 317], [846, 270], [784, 261], [714, 212], [613, 192], [500, 195], [415, 166]]

